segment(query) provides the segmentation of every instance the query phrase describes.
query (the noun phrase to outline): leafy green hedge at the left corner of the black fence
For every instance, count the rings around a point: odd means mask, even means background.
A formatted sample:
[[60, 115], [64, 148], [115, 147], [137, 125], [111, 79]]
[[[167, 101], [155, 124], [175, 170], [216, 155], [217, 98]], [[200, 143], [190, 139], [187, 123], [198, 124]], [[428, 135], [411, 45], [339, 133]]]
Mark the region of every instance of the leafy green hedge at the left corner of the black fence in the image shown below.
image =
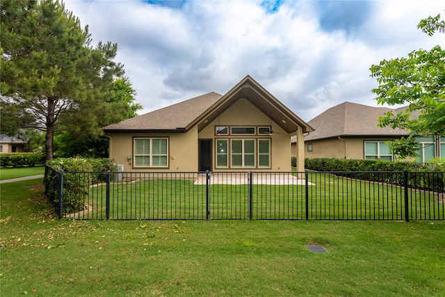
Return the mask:
[[[81, 211], [83, 195], [88, 193], [90, 186], [99, 184], [106, 179], [108, 170], [116, 171], [112, 159], [60, 158], [53, 159], [45, 168], [45, 194], [59, 207], [60, 197], [58, 189], [63, 183], [63, 207], [66, 211]], [[63, 175], [63, 172], [77, 172], [79, 174]], [[86, 174], [86, 172], [88, 172]], [[64, 178], [64, 179], [63, 179]]]

